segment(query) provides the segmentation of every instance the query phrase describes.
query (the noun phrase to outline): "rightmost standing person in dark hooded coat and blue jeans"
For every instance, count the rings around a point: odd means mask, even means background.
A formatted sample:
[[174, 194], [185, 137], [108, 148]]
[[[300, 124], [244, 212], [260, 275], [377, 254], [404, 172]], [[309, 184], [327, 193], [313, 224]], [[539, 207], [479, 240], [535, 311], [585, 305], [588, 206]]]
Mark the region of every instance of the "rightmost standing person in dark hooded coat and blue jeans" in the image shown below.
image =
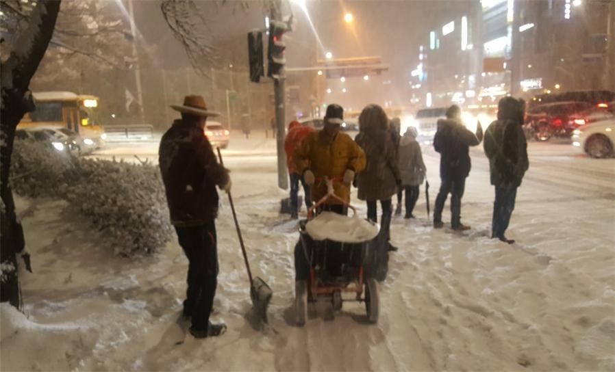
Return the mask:
[[495, 187], [491, 237], [512, 244], [505, 237], [514, 209], [517, 188], [529, 168], [527, 141], [523, 133], [525, 102], [504, 97], [498, 103], [498, 120], [485, 132], [483, 144], [489, 158], [491, 184]]

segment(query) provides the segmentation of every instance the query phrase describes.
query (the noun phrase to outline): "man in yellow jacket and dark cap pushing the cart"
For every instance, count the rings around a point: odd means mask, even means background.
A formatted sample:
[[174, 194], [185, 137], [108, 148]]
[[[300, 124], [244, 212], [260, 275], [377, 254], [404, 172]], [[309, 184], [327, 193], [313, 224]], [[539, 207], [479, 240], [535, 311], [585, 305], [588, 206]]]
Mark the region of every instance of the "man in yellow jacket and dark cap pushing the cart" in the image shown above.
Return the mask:
[[[350, 202], [350, 185], [355, 173], [365, 168], [365, 152], [349, 135], [340, 132], [344, 122], [344, 109], [340, 105], [333, 103], [327, 107], [324, 122], [323, 129], [310, 133], [294, 150], [292, 159], [295, 169], [310, 185], [312, 201], [318, 202], [327, 195], [327, 177], [342, 179], [341, 183], [334, 182], [334, 192], [342, 200]], [[335, 198], [327, 199], [320, 211], [342, 215], [348, 212], [347, 207]]]

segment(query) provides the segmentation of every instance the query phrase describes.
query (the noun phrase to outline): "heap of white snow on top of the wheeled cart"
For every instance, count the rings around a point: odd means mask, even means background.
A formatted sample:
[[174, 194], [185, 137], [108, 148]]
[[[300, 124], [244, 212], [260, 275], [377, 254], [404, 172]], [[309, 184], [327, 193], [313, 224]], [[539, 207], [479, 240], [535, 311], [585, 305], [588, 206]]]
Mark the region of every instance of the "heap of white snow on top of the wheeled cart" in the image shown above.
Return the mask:
[[334, 240], [342, 243], [361, 243], [374, 239], [379, 226], [357, 215], [348, 217], [333, 212], [323, 212], [305, 225], [305, 231], [314, 240]]

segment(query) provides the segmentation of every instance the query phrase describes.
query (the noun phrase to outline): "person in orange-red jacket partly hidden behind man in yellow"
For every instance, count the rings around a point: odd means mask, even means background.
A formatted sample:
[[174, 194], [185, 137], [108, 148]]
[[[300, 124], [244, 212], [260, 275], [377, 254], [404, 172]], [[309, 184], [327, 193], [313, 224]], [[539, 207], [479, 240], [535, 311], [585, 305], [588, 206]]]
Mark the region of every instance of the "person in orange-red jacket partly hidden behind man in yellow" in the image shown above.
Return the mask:
[[284, 140], [284, 151], [286, 152], [286, 165], [288, 166], [288, 176], [290, 177], [290, 217], [299, 217], [299, 202], [297, 201], [297, 192], [299, 191], [299, 181], [303, 186], [305, 193], [305, 207], [310, 209], [312, 207], [312, 198], [310, 196], [310, 185], [303, 181], [303, 177], [299, 174], [299, 171], [294, 166], [294, 160], [292, 159], [292, 153], [295, 148], [301, 145], [301, 141], [305, 137], [308, 137], [310, 133], [314, 131], [314, 128], [301, 125], [297, 120], [293, 120], [288, 124], [288, 133]]

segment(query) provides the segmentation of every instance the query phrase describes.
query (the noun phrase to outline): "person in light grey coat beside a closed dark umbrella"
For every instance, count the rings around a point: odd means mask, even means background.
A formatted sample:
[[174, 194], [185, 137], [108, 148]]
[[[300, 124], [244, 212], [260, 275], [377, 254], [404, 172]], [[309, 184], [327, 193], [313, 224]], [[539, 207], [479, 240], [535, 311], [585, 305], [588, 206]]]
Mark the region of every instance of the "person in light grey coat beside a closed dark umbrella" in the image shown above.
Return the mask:
[[408, 129], [399, 141], [397, 157], [399, 165], [399, 175], [401, 176], [401, 189], [405, 193], [405, 215], [404, 218], [414, 218], [412, 211], [418, 200], [421, 183], [425, 181], [425, 163], [421, 145], [416, 142], [416, 128]]

